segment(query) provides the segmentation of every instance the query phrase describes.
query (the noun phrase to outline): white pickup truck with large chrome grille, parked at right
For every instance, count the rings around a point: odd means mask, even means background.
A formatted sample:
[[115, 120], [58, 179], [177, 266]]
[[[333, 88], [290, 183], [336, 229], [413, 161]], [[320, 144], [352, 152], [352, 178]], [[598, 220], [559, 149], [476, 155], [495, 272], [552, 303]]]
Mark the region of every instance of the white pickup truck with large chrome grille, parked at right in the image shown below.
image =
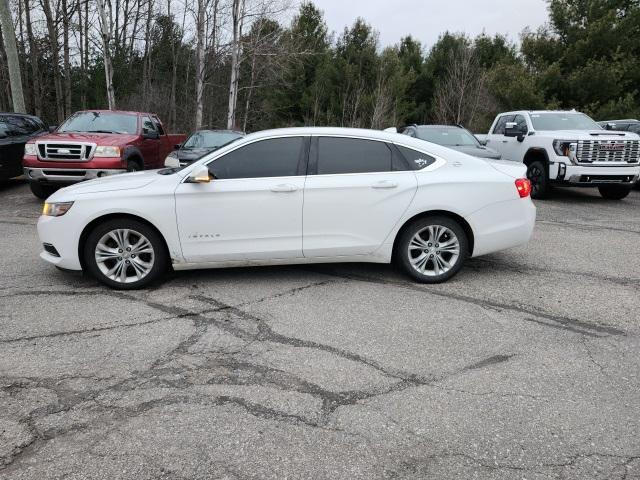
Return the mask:
[[597, 187], [620, 200], [640, 177], [640, 136], [604, 130], [575, 110], [501, 113], [486, 142], [503, 159], [527, 165], [533, 198], [565, 186]]

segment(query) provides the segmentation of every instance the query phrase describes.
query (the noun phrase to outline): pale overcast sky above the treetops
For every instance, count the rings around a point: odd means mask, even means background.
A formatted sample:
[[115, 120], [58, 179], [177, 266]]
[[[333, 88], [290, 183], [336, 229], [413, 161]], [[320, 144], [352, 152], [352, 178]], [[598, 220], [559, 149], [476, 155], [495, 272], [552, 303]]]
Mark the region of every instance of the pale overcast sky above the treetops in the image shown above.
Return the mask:
[[313, 0], [329, 29], [341, 34], [357, 17], [380, 33], [381, 46], [411, 34], [427, 48], [447, 30], [475, 36], [485, 31], [518, 41], [525, 27], [547, 21], [545, 0]]

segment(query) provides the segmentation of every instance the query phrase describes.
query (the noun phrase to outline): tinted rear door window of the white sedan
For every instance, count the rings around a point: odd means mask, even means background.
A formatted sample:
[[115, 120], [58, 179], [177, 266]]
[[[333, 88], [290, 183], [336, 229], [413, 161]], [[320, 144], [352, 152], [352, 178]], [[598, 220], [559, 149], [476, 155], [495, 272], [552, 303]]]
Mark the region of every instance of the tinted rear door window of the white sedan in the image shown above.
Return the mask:
[[392, 154], [384, 142], [355, 138], [318, 140], [318, 175], [390, 172]]

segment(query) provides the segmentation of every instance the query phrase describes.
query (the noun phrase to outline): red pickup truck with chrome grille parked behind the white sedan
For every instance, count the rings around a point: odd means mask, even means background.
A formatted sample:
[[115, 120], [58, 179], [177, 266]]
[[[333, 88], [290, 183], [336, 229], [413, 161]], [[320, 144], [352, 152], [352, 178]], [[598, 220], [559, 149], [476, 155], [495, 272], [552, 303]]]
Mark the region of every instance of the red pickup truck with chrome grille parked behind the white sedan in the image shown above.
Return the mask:
[[31, 191], [44, 199], [65, 184], [162, 168], [185, 138], [167, 135], [151, 113], [81, 111], [53, 133], [29, 141], [22, 166]]

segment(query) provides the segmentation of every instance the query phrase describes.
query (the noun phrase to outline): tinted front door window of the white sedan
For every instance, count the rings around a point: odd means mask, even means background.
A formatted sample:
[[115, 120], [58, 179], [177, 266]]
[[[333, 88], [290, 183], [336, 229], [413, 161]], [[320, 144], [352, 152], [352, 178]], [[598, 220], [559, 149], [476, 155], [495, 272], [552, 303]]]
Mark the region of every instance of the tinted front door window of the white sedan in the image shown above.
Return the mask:
[[292, 177], [304, 155], [304, 138], [260, 140], [209, 163], [209, 171], [218, 179]]

